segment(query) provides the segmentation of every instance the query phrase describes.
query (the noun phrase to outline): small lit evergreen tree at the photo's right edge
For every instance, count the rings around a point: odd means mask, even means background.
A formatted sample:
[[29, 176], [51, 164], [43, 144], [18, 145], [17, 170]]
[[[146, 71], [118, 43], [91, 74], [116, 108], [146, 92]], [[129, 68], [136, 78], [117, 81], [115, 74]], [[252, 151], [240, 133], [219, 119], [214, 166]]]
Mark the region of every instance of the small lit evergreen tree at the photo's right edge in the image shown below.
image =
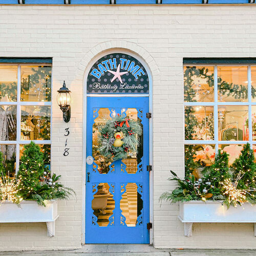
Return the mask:
[[254, 163], [254, 152], [250, 148], [250, 144], [244, 145], [241, 155], [236, 159], [232, 165], [233, 179], [236, 180], [240, 176], [238, 182], [239, 189], [248, 189], [248, 187], [256, 187], [255, 176], [256, 176], [256, 164]]

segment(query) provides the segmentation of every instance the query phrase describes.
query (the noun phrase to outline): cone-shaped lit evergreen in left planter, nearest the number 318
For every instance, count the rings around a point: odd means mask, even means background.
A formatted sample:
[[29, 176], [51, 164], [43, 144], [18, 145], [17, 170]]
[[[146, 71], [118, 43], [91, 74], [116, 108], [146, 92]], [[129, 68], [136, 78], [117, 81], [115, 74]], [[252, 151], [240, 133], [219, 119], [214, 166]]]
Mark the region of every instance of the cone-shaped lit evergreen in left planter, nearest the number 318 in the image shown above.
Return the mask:
[[22, 179], [20, 196], [30, 198], [40, 187], [40, 180], [44, 176], [44, 155], [40, 152], [40, 147], [34, 142], [24, 147], [24, 155], [18, 171], [18, 178]]

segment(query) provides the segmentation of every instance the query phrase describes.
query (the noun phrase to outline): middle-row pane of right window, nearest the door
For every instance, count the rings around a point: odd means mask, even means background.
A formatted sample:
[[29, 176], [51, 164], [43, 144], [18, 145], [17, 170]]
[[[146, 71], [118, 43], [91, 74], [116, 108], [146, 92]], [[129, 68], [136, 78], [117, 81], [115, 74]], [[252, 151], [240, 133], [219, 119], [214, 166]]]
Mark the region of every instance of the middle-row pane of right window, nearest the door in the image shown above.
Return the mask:
[[185, 139], [214, 140], [213, 106], [185, 106]]

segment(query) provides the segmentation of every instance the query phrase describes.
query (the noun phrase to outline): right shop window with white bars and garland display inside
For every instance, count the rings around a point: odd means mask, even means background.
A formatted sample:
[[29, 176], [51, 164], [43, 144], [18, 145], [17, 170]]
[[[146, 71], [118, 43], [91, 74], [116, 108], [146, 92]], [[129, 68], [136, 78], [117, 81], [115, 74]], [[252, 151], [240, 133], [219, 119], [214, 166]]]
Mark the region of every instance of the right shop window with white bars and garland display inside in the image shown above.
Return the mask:
[[256, 66], [184, 66], [184, 105], [186, 174], [200, 175], [218, 150], [229, 165], [248, 142], [256, 155]]

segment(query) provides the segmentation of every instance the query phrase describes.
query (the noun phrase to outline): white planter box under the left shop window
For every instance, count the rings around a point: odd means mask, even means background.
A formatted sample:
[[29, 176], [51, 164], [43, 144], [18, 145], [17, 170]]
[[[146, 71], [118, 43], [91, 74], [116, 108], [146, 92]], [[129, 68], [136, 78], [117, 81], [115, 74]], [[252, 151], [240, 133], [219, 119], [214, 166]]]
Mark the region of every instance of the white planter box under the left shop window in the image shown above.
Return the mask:
[[0, 206], [0, 223], [46, 222], [50, 237], [54, 236], [57, 218], [55, 200], [46, 201], [46, 207], [39, 206], [35, 201], [22, 201], [20, 207], [12, 202], [4, 202]]

